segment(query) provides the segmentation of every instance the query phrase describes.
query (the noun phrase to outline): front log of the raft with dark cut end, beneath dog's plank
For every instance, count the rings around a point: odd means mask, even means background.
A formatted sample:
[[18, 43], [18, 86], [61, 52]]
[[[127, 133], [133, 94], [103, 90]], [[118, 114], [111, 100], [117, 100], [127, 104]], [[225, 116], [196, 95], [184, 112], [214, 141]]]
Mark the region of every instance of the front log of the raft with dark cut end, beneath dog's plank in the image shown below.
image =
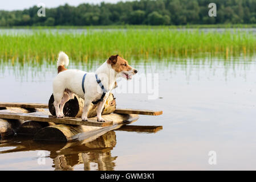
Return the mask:
[[136, 114], [107, 114], [102, 116], [105, 120], [112, 120], [113, 125], [107, 127], [83, 126], [83, 125], [55, 125], [44, 127], [35, 134], [35, 140], [93, 140], [119, 127], [136, 121], [139, 117]]

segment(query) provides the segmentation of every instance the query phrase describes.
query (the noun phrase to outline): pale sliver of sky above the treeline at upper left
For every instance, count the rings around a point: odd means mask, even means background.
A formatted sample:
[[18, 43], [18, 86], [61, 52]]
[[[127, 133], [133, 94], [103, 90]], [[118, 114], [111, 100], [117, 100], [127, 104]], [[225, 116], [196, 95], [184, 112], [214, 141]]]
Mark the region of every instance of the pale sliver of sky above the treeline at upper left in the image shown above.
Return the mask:
[[116, 3], [119, 1], [125, 1], [125, 0], [1, 0], [0, 1], [0, 10], [23, 10], [23, 9], [29, 9], [29, 7], [32, 7], [34, 5], [38, 5], [39, 3], [44, 3], [46, 7], [58, 7], [59, 5], [64, 5], [65, 3], [68, 3], [68, 5], [72, 6], [78, 6], [82, 3], [100, 3], [100, 2], [110, 2], [110, 3]]

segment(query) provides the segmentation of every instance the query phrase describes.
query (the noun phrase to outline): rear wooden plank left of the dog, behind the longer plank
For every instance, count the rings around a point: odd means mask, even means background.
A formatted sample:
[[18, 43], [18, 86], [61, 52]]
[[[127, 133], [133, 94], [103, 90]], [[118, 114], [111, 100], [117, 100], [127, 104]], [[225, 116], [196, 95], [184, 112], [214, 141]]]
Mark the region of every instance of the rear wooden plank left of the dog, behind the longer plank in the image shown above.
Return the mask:
[[0, 107], [22, 107], [22, 108], [48, 108], [48, 104], [36, 104], [36, 103], [19, 103], [19, 102], [0, 102]]

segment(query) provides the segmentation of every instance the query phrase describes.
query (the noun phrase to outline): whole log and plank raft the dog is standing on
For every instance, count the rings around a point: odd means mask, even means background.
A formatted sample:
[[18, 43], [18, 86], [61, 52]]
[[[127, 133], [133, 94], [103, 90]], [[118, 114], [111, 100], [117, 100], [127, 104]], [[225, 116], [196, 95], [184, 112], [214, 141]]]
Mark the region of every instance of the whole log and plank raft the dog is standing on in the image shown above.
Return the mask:
[[[76, 97], [75, 97], [76, 98]], [[51, 100], [51, 102], [50, 102]], [[108, 98], [102, 117], [106, 122], [97, 122], [95, 115], [96, 106], [91, 107], [91, 117], [88, 121], [82, 121], [80, 105], [83, 100], [76, 98], [76, 101], [68, 101], [66, 114], [76, 117], [56, 118], [48, 108], [52, 104], [14, 103], [0, 102], [0, 134], [1, 137], [9, 135], [32, 135], [34, 140], [58, 140], [74, 141], [77, 139], [97, 138], [111, 130], [152, 132], [161, 130], [161, 126], [129, 126], [121, 129], [122, 126], [137, 121], [138, 114], [160, 115], [162, 111], [116, 109], [115, 98], [111, 95]], [[53, 100], [54, 101], [54, 100]], [[68, 103], [67, 102], [67, 103]], [[76, 107], [74, 107], [74, 102]], [[51, 107], [52, 108], [52, 107]], [[71, 108], [73, 109], [72, 111]], [[74, 109], [75, 108], [75, 109]], [[68, 111], [69, 110], [69, 111]]]

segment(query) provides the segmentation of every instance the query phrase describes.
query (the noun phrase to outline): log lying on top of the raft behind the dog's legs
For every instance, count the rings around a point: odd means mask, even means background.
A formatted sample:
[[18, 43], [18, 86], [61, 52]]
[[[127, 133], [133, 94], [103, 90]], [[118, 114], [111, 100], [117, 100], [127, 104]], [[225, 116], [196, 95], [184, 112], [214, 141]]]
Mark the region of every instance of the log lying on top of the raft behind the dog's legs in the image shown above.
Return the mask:
[[[76, 117], [80, 118], [83, 114], [83, 106], [84, 106], [84, 99], [78, 97], [76, 94], [74, 94], [74, 99], [69, 100], [66, 102], [63, 108], [63, 114], [66, 117]], [[50, 100], [48, 102], [48, 109], [52, 115], [56, 115], [55, 113], [55, 107], [54, 107], [54, 96], [53, 94], [50, 97]], [[109, 97], [107, 98], [107, 102], [104, 106], [104, 109], [102, 111], [102, 114], [110, 114], [113, 113], [116, 109], [116, 100], [113, 97], [113, 94], [109, 94]], [[90, 110], [88, 111], [88, 118], [95, 117], [97, 110], [97, 105], [91, 104]]]

